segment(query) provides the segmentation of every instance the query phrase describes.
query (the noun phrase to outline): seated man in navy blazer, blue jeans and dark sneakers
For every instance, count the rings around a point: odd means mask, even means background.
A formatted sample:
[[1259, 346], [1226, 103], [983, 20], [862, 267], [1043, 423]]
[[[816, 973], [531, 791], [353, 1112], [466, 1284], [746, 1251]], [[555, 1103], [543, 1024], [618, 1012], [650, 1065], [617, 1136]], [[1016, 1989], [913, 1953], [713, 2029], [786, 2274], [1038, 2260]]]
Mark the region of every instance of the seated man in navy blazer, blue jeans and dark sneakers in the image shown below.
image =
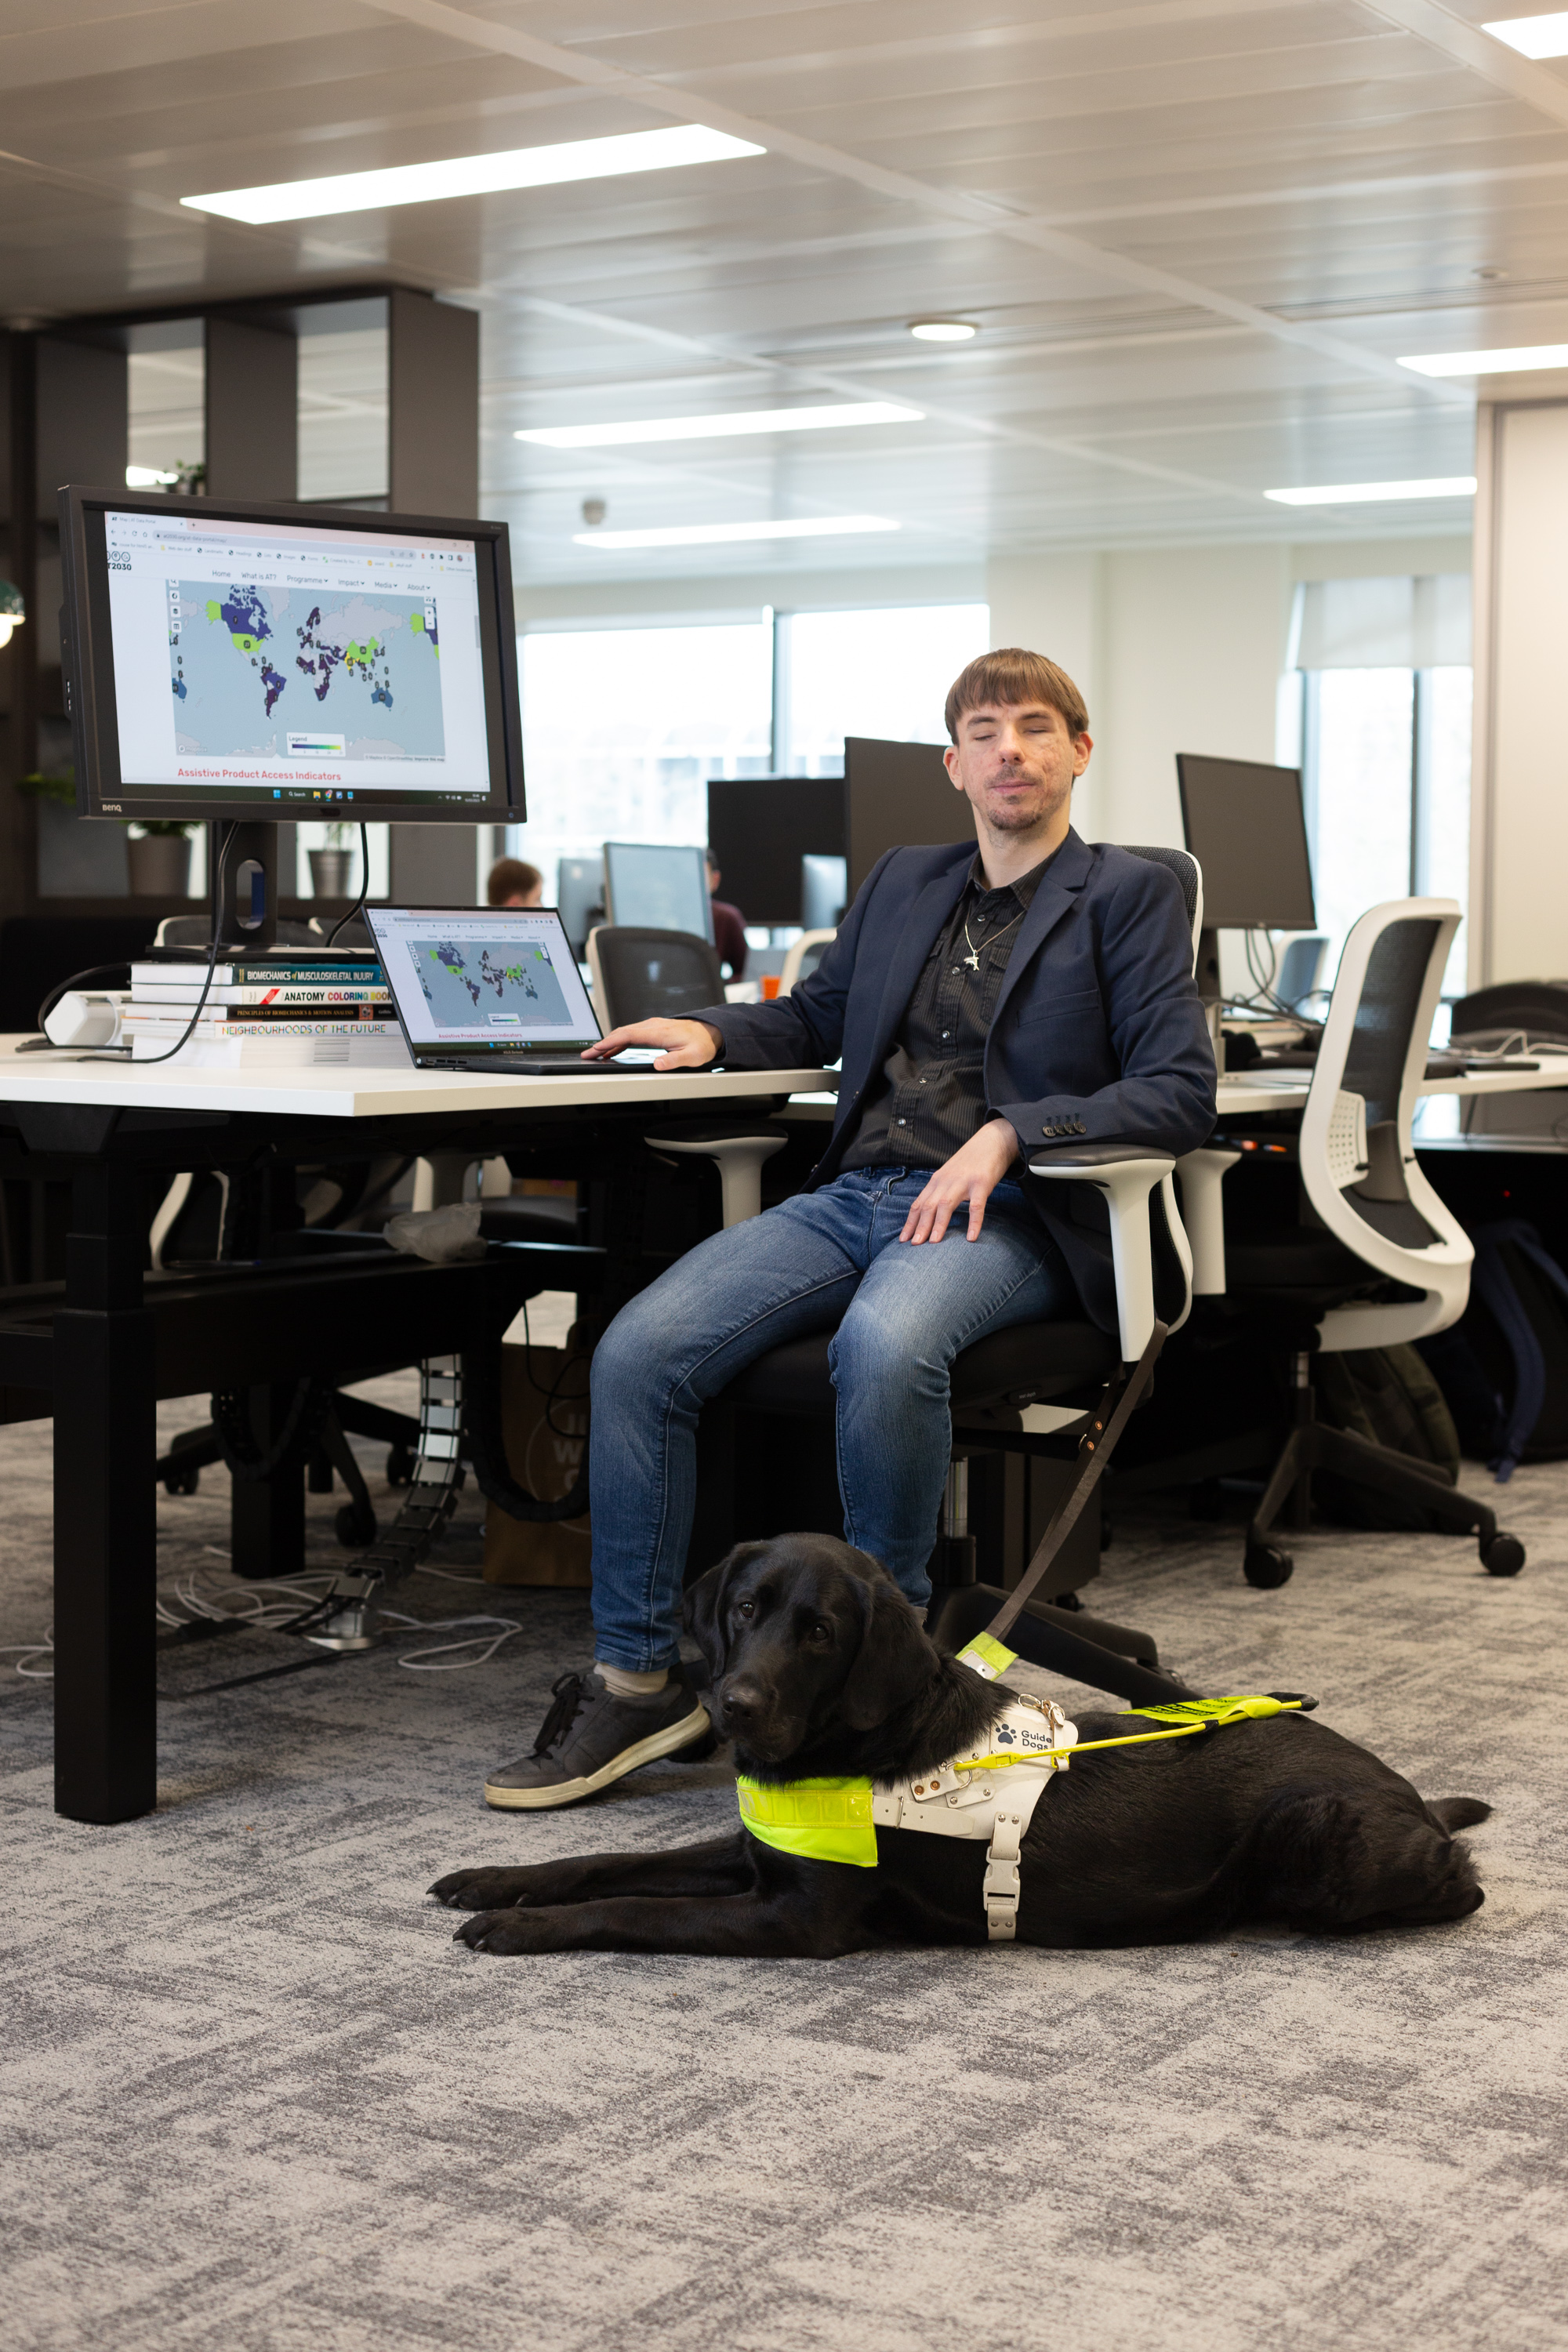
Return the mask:
[[[696, 1421], [769, 1348], [837, 1324], [844, 1534], [917, 1609], [947, 1475], [947, 1369], [1016, 1322], [1117, 1327], [1100, 1209], [1020, 1169], [1041, 1143], [1194, 1150], [1215, 1068], [1175, 875], [1070, 823], [1088, 767], [1072, 680], [1020, 649], [947, 694], [947, 774], [978, 849], [889, 849], [823, 962], [773, 1004], [637, 1021], [590, 1056], [661, 1070], [844, 1058], [804, 1192], [712, 1235], [616, 1315], [592, 1359], [595, 1672], [557, 1682], [494, 1806], [588, 1797], [708, 1731], [672, 1675], [696, 1501]], [[1086, 1200], [1079, 1200], [1086, 1195]]]

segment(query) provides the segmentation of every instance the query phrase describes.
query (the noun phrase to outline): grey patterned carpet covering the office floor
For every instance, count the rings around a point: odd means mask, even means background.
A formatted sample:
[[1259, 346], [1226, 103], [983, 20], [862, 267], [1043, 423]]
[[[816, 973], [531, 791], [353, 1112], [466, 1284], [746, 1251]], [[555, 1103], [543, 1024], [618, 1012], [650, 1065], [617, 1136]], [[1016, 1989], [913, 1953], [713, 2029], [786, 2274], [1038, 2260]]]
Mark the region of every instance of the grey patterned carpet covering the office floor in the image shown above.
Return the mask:
[[[47, 1430], [0, 1432], [0, 1642], [47, 1623], [45, 1472]], [[216, 1585], [226, 1479], [160, 1515], [165, 1583]], [[416, 1635], [207, 1698], [280, 1639], [169, 1665], [160, 1811], [118, 1830], [54, 1818], [49, 1686], [0, 1661], [5, 2343], [1568, 2343], [1568, 1468], [1521, 1472], [1509, 1522], [1516, 1583], [1326, 1531], [1251, 1592], [1239, 1531], [1175, 1512], [1107, 1555], [1095, 1602], [1208, 1689], [1319, 1691], [1427, 1795], [1497, 1806], [1481, 1912], [1345, 1943], [473, 1959], [440, 1870], [731, 1818], [719, 1764], [484, 1811], [588, 1656], [581, 1597], [421, 1576], [421, 1618], [520, 1621], [473, 1672], [402, 1668]], [[442, 1566], [477, 1573], [475, 1519]]]

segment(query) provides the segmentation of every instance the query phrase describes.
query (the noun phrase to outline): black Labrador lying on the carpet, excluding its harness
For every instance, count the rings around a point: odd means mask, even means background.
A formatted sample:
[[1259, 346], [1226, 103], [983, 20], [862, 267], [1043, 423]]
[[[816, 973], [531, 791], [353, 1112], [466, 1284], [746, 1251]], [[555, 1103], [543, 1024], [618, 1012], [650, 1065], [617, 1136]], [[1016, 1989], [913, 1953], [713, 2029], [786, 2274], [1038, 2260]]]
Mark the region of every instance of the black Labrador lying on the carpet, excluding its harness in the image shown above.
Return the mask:
[[[945, 1658], [870, 1555], [830, 1536], [741, 1543], [686, 1597], [715, 1729], [752, 1780], [891, 1783], [964, 1755], [1013, 1693]], [[1079, 1738], [1126, 1717], [1086, 1715]], [[1462, 1919], [1483, 1900], [1453, 1832], [1474, 1797], [1427, 1804], [1307, 1715], [1074, 1757], [1023, 1839], [1018, 1943], [1178, 1943], [1253, 1919], [1319, 1933]], [[736, 1825], [672, 1853], [454, 1870], [430, 1893], [475, 1912], [475, 1952], [743, 1952], [830, 1959], [987, 1940], [985, 1846], [877, 1832], [877, 1867], [802, 1860]]]

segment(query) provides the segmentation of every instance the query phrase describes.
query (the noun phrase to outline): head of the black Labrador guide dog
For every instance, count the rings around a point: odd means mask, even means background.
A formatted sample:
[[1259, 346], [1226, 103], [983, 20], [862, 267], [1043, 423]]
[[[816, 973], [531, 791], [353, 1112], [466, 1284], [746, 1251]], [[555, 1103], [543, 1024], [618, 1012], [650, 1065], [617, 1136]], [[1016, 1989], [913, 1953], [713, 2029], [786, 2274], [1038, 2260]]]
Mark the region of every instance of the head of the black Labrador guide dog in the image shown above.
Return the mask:
[[712, 1670], [715, 1729], [759, 1764], [837, 1726], [872, 1731], [940, 1672], [889, 1571], [835, 1536], [738, 1543], [686, 1595], [686, 1630]]

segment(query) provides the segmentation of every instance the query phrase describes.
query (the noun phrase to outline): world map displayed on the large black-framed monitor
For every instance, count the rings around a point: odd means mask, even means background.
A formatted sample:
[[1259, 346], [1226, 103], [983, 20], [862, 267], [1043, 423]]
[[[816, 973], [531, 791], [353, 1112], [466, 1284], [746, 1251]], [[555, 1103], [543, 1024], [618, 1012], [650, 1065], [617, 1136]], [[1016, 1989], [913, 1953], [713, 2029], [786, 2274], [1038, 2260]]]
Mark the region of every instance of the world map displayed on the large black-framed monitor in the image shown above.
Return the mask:
[[169, 581], [181, 753], [442, 760], [435, 600]]

